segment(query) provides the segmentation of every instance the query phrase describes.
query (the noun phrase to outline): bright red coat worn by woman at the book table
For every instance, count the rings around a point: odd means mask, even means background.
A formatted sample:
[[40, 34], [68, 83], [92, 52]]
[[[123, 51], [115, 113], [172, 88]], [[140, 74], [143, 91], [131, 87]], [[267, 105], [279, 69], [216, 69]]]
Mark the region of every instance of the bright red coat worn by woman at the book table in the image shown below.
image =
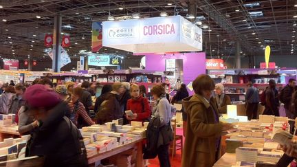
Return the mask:
[[126, 109], [137, 113], [137, 118], [133, 121], [144, 122], [144, 120], [151, 117], [151, 107], [148, 104], [148, 100], [142, 96], [139, 96], [137, 100], [129, 99]]

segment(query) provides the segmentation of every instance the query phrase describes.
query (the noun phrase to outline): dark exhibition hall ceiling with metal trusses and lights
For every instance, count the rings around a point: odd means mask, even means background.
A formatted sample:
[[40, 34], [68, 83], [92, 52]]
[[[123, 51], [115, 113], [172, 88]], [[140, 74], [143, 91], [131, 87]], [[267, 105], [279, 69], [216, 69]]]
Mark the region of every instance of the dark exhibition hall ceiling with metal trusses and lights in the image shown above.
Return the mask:
[[[62, 32], [70, 34], [69, 56], [77, 58], [80, 50], [91, 50], [93, 21], [107, 21], [109, 16], [187, 17], [191, 4], [196, 5], [192, 21], [203, 29], [203, 51], [208, 56], [233, 56], [237, 41], [242, 56], [263, 56], [265, 45], [272, 47], [273, 55], [297, 53], [295, 0], [0, 0], [0, 56], [49, 59], [44, 36], [53, 32], [56, 14], [62, 16]], [[111, 48], [100, 53], [131, 55]]]

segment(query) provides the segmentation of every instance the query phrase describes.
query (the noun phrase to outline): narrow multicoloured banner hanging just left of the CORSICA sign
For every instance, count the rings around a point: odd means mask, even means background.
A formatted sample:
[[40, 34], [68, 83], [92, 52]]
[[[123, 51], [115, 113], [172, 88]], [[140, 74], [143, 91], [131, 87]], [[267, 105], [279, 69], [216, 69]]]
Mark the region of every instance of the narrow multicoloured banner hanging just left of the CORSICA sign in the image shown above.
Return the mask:
[[102, 22], [92, 23], [92, 52], [98, 52], [102, 47]]

